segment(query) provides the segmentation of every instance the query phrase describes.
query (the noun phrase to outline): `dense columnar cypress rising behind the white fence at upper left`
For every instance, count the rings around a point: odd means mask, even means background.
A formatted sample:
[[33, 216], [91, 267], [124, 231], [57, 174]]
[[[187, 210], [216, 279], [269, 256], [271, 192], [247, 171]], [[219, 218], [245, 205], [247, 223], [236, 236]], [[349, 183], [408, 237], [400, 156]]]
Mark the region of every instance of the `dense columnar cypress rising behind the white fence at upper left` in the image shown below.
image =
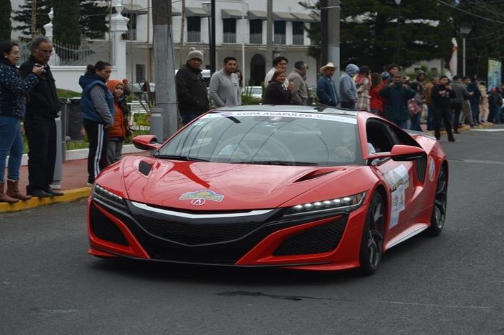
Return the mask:
[[81, 45], [78, 0], [54, 0], [54, 40], [66, 45]]

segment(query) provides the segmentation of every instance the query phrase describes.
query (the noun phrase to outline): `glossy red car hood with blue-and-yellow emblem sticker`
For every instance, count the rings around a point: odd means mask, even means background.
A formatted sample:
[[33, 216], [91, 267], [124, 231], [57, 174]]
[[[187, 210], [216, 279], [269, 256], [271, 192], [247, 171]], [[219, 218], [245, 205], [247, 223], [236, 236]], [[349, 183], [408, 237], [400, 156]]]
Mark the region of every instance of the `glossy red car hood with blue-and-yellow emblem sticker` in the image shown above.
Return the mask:
[[349, 166], [277, 166], [123, 159], [130, 200], [187, 210], [276, 208], [355, 169]]

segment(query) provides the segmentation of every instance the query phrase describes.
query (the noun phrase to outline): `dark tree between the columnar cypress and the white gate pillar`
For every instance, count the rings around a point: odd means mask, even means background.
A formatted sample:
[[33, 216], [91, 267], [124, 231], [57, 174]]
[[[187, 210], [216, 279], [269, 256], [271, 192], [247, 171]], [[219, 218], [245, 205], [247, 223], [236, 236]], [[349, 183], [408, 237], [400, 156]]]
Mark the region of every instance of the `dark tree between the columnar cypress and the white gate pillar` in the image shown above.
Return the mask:
[[107, 15], [108, 6], [99, 6], [96, 1], [81, 1], [81, 35], [88, 39], [101, 39], [108, 31]]

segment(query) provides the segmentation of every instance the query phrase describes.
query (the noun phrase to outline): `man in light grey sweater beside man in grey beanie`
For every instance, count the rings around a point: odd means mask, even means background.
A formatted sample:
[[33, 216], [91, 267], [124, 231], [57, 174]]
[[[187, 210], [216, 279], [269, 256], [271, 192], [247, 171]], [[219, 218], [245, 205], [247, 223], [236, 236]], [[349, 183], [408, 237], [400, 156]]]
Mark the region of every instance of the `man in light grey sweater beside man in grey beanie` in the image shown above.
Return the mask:
[[242, 105], [238, 76], [234, 73], [236, 58], [224, 58], [224, 66], [210, 79], [209, 93], [213, 107]]

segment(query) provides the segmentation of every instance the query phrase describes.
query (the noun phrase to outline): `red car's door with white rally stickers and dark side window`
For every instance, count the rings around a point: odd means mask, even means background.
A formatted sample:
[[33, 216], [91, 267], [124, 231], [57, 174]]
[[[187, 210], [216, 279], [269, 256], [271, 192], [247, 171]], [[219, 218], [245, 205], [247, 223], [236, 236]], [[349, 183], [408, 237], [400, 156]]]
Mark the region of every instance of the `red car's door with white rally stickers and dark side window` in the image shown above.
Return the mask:
[[[393, 126], [377, 118], [366, 122], [366, 136], [370, 151], [390, 152], [395, 144], [403, 144]], [[414, 197], [414, 162], [397, 162], [391, 158], [375, 160], [371, 169], [385, 181], [388, 193], [388, 238], [406, 229], [412, 221], [410, 203]]]

